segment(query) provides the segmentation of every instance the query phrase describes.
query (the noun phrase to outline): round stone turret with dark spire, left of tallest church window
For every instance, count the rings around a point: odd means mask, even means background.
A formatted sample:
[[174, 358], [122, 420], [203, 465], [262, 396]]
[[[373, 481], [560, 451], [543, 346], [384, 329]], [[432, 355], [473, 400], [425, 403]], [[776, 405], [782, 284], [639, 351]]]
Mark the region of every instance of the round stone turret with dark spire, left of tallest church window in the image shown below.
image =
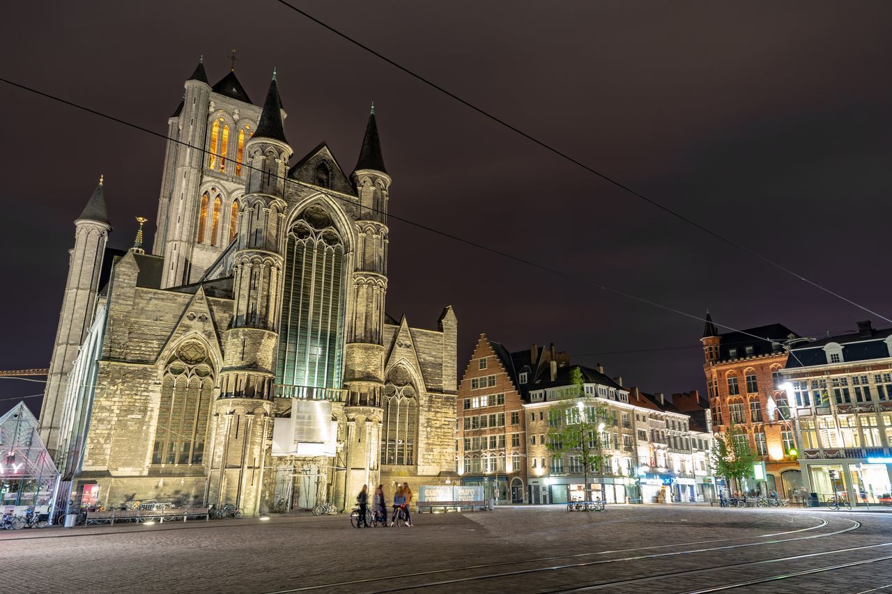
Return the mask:
[[[210, 501], [235, 503], [248, 515], [260, 506], [282, 293], [285, 139], [275, 70], [257, 131], [245, 144], [247, 171], [233, 263], [234, 311], [224, 333], [220, 395], [211, 423]], [[251, 477], [248, 479], [247, 477]]]

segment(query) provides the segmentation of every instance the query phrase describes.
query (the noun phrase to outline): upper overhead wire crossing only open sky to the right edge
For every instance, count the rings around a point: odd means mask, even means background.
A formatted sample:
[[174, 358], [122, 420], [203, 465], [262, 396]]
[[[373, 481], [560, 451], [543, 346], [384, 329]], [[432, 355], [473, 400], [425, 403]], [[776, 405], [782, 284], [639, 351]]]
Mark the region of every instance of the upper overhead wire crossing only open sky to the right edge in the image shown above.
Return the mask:
[[512, 124], [509, 124], [508, 121], [506, 121], [506, 120], [502, 120], [499, 116], [496, 116], [496, 115], [494, 115], [493, 113], [491, 113], [490, 111], [486, 111], [486, 110], [484, 110], [483, 108], [476, 106], [474, 103], [471, 103], [471, 102], [467, 101], [467, 99], [463, 99], [462, 97], [460, 97], [460, 96], [458, 96], [458, 95], [452, 93], [451, 91], [447, 90], [446, 88], [441, 87], [440, 85], [436, 84], [434, 81], [430, 80], [429, 78], [425, 78], [425, 77], [421, 76], [420, 74], [417, 74], [417, 72], [415, 72], [414, 70], [409, 70], [408, 68], [406, 68], [405, 66], [403, 66], [403, 65], [400, 64], [399, 62], [394, 62], [393, 60], [391, 60], [390, 58], [388, 58], [388, 57], [385, 56], [384, 54], [380, 54], [379, 52], [377, 52], [376, 50], [372, 49], [372, 48], [369, 47], [368, 45], [365, 45], [365, 44], [363, 44], [362, 42], [357, 41], [357, 40], [354, 39], [353, 37], [350, 37], [350, 36], [347, 35], [346, 33], [343, 33], [341, 30], [339, 30], [339, 29], [335, 29], [334, 27], [332, 27], [331, 25], [329, 25], [329, 24], [326, 23], [325, 21], [320, 21], [318, 18], [314, 17], [314, 16], [311, 15], [309, 12], [302, 11], [302, 10], [301, 10], [300, 8], [298, 8], [297, 6], [294, 6], [293, 4], [290, 4], [290, 3], [288, 3], [288, 2], [285, 2], [285, 0], [275, 0], [275, 1], [276, 1], [277, 3], [279, 3], [279, 4], [283, 4], [284, 6], [287, 6], [288, 8], [290, 8], [291, 10], [293, 10], [294, 12], [297, 12], [297, 13], [301, 14], [301, 16], [303, 16], [303, 17], [309, 19], [310, 21], [315, 22], [315, 23], [318, 24], [320, 27], [323, 27], [324, 29], [328, 29], [329, 31], [331, 31], [332, 33], [334, 33], [335, 35], [337, 35], [338, 37], [341, 37], [341, 38], [343, 38], [344, 40], [349, 41], [351, 44], [356, 45], [357, 47], [359, 47], [359, 48], [362, 49], [362, 50], [365, 50], [365, 51], [368, 52], [369, 54], [374, 55], [376, 58], [378, 58], [378, 59], [380, 59], [380, 60], [382, 60], [382, 61], [384, 61], [384, 62], [387, 62], [388, 64], [390, 64], [390, 65], [393, 66], [394, 68], [396, 68], [396, 69], [398, 69], [398, 70], [402, 70], [403, 72], [405, 72], [406, 74], [408, 74], [410, 77], [415, 78], [415, 79], [418, 80], [419, 82], [424, 83], [424, 84], [427, 85], [428, 87], [432, 87], [432, 88], [434, 88], [435, 90], [440, 91], [443, 95], [447, 95], [447, 96], [449, 96], [450, 98], [452, 98], [452, 99], [458, 101], [458, 103], [461, 103], [461, 104], [465, 105], [468, 109], [473, 110], [473, 111], [476, 111], [477, 113], [479, 113], [480, 115], [482, 115], [484, 118], [487, 118], [488, 120], [494, 121], [494, 122], [496, 122], [497, 124], [499, 124], [500, 126], [502, 126], [502, 127], [504, 127], [504, 128], [508, 128], [508, 129], [511, 130], [512, 132], [515, 132], [516, 134], [518, 134], [518, 135], [520, 135], [520, 136], [523, 136], [524, 138], [526, 138], [527, 140], [529, 140], [529, 141], [532, 142], [533, 144], [538, 144], [539, 146], [541, 146], [541, 148], [545, 149], [545, 150], [548, 151], [549, 153], [556, 154], [556, 155], [558, 155], [558, 157], [560, 157], [560, 158], [562, 158], [562, 159], [564, 159], [564, 160], [566, 160], [566, 161], [570, 161], [571, 163], [573, 163], [573, 164], [576, 165], [577, 167], [580, 167], [580, 168], [582, 168], [582, 169], [585, 169], [585, 170], [588, 171], [589, 173], [591, 173], [591, 174], [593, 174], [593, 175], [595, 175], [595, 176], [600, 177], [601, 179], [603, 179], [603, 180], [606, 181], [607, 183], [612, 184], [613, 186], [616, 186], [616, 187], [620, 188], [621, 190], [624, 190], [624, 192], [627, 192], [627, 193], [629, 193], [629, 194], [632, 194], [633, 196], [635, 196], [636, 198], [639, 198], [640, 200], [643, 200], [644, 202], [648, 202], [648, 204], [650, 204], [651, 206], [654, 206], [654, 207], [656, 207], [656, 208], [659, 209], [659, 210], [663, 210], [665, 213], [672, 215], [674, 218], [676, 218], [676, 219], [680, 219], [680, 220], [684, 221], [685, 223], [688, 223], [689, 225], [692, 225], [693, 227], [697, 227], [698, 229], [700, 229], [700, 230], [703, 231], [704, 233], [706, 233], [706, 234], [708, 234], [708, 235], [712, 235], [713, 237], [715, 237], [715, 238], [718, 239], [719, 241], [722, 241], [722, 242], [724, 242], [724, 243], [728, 243], [729, 245], [732, 245], [732, 246], [738, 248], [739, 250], [742, 250], [743, 252], [747, 252], [747, 253], [750, 254], [751, 256], [755, 256], [755, 257], [758, 258], [759, 260], [763, 260], [764, 262], [766, 262], [766, 263], [772, 265], [774, 268], [778, 268], [779, 270], [781, 270], [781, 271], [783, 271], [783, 272], [789, 274], [790, 276], [794, 276], [794, 277], [796, 277], [797, 279], [799, 279], [800, 281], [802, 281], [802, 282], [804, 282], [804, 283], [807, 283], [808, 285], [812, 285], [812, 286], [814, 286], [814, 287], [817, 288], [817, 289], [821, 289], [824, 293], [829, 293], [830, 295], [833, 295], [834, 297], [836, 297], [836, 298], [838, 298], [838, 299], [840, 299], [840, 300], [842, 300], [842, 301], [846, 301], [846, 302], [847, 302], [848, 304], [850, 304], [850, 305], [854, 305], [854, 306], [855, 306], [856, 308], [858, 308], [858, 309], [862, 309], [863, 311], [866, 311], [867, 313], [869, 313], [869, 314], [871, 314], [871, 315], [873, 315], [873, 316], [876, 316], [876, 317], [878, 317], [878, 318], [882, 318], [882, 319], [886, 320], [887, 322], [892, 323], [892, 319], [886, 318], [885, 316], [883, 316], [883, 315], [877, 313], [876, 311], [873, 311], [872, 309], [868, 309], [868, 308], [864, 307], [863, 305], [860, 305], [859, 303], [856, 303], [855, 301], [852, 301], [852, 300], [848, 299], [847, 297], [845, 297], [845, 296], [843, 296], [843, 295], [840, 295], [839, 293], [836, 293], [836, 292], [830, 290], [829, 288], [827, 288], [827, 287], [825, 287], [825, 286], [823, 286], [823, 285], [819, 285], [818, 283], [815, 283], [814, 281], [812, 281], [812, 280], [810, 280], [810, 279], [808, 279], [808, 278], [805, 278], [805, 276], [802, 276], [802, 275], [798, 274], [796, 271], [791, 270], [791, 269], [785, 267], [784, 265], [780, 264], [779, 262], [776, 262], [776, 261], [772, 260], [771, 258], [768, 258], [767, 256], [764, 256], [763, 254], [761, 254], [761, 253], [759, 253], [759, 252], [756, 252], [755, 250], [752, 250], [752, 249], [748, 248], [747, 246], [743, 245], [742, 243], [735, 242], [733, 239], [731, 239], [731, 238], [729, 238], [729, 237], [726, 237], [726, 236], [724, 236], [724, 235], [721, 235], [721, 234], [719, 234], [718, 232], [713, 231], [711, 228], [706, 227], [705, 225], [701, 225], [701, 224], [698, 223], [697, 221], [695, 221], [695, 220], [693, 220], [693, 219], [690, 219], [690, 218], [686, 217], [685, 215], [681, 214], [680, 212], [676, 212], [675, 210], [672, 210], [672, 209], [669, 208], [668, 206], [665, 206], [664, 204], [662, 204], [662, 203], [660, 203], [660, 202], [657, 202], [656, 200], [653, 200], [653, 199], [651, 199], [651, 198], [648, 198], [648, 197], [645, 196], [644, 194], [641, 194], [640, 192], [638, 192], [638, 191], [636, 191], [636, 190], [633, 190], [632, 187], [630, 187], [630, 186], [626, 186], [624, 183], [618, 181], [617, 179], [615, 179], [615, 178], [613, 178], [613, 177], [609, 177], [609, 176], [607, 176], [607, 175], [604, 174], [604, 173], [601, 173], [598, 169], [594, 169], [593, 167], [590, 167], [589, 165], [586, 165], [586, 164], [583, 163], [582, 161], [579, 161], [578, 159], [575, 159], [574, 157], [570, 156], [569, 154], [564, 153], [563, 151], [561, 151], [560, 149], [556, 148], [555, 146], [553, 146], [553, 145], [551, 145], [551, 144], [548, 144], [548, 143], [546, 143], [546, 142], [544, 142], [544, 141], [542, 141], [542, 140], [539, 140], [539, 139], [536, 138], [535, 136], [532, 136], [532, 135], [530, 135], [530, 134], [524, 132], [524, 131], [521, 130], [520, 128], [517, 128], [516, 126], [514, 126], [514, 125], [512, 125]]

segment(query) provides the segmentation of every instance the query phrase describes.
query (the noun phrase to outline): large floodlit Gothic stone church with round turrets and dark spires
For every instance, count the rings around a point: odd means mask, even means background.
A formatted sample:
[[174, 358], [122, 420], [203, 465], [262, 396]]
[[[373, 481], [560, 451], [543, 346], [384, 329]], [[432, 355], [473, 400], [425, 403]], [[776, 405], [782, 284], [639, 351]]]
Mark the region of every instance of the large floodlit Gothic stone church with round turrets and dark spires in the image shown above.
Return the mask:
[[275, 71], [260, 106], [199, 63], [168, 120], [153, 252], [108, 247], [102, 180], [75, 221], [40, 434], [76, 498], [97, 483], [107, 507], [256, 514], [454, 475], [457, 321], [385, 313], [374, 108], [350, 172], [325, 143], [291, 165], [284, 120]]

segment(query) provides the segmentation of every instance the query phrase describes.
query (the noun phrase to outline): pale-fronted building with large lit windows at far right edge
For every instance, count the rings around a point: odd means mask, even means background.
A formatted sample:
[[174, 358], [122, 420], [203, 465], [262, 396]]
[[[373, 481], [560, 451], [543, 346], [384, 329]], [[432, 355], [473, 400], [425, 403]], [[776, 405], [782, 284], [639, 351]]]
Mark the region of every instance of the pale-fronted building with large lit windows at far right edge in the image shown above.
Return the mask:
[[780, 375], [795, 411], [802, 491], [820, 501], [885, 505], [892, 502], [892, 329], [857, 326], [791, 346]]

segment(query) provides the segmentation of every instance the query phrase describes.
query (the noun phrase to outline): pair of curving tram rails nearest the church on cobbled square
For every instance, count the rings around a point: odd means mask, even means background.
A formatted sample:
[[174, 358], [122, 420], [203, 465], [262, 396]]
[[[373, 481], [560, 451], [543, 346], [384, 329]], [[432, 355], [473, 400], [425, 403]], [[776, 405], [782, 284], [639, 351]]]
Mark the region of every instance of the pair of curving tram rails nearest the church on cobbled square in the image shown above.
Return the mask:
[[[679, 543], [664, 544], [664, 545], [651, 545], [648, 547], [637, 547], [637, 548], [631, 548], [631, 549], [613, 549], [613, 550], [591, 551], [591, 552], [586, 552], [586, 553], [574, 553], [571, 555], [560, 555], [560, 556], [552, 556], [552, 557], [535, 557], [535, 558], [530, 558], [530, 559], [519, 559], [519, 560], [514, 560], [514, 561], [500, 561], [497, 563], [490, 563], [490, 564], [465, 565], [465, 566], [461, 566], [461, 567], [450, 567], [450, 568], [446, 568], [446, 569], [434, 569], [434, 570], [427, 570], [427, 571], [423, 571], [423, 572], [401, 573], [398, 575], [387, 575], [387, 576], [381, 576], [381, 577], [362, 578], [362, 579], [358, 579], [358, 580], [349, 580], [349, 581], [343, 581], [343, 582], [329, 582], [329, 583], [324, 583], [324, 584], [303, 586], [300, 588], [293, 588], [293, 589], [287, 589], [287, 590], [275, 590], [273, 592], [268, 592], [268, 594], [288, 594], [291, 592], [324, 590], [324, 589], [333, 589], [333, 588], [343, 588], [343, 587], [349, 587], [349, 586], [355, 587], [355, 586], [359, 586], [360, 584], [369, 584], [369, 583], [373, 583], [373, 582], [392, 582], [392, 581], [397, 581], [397, 580], [405, 580], [405, 579], [410, 579], [410, 578], [431, 576], [431, 575], [437, 575], [437, 574], [442, 574], [442, 573], [477, 571], [477, 570], [490, 569], [493, 567], [505, 567], [505, 566], [510, 566], [510, 565], [526, 565], [526, 564], [531, 564], [531, 563], [541, 563], [541, 562], [547, 562], [547, 561], [559, 561], [562, 559], [572, 559], [572, 558], [580, 558], [580, 557], [595, 557], [595, 556], [602, 556], [602, 555], [638, 552], [638, 551], [652, 550], [652, 549], [671, 549], [674, 547], [687, 547], [687, 546], [696, 546], [696, 545], [704, 545], [704, 544], [714, 544], [714, 543], [718, 543], [718, 542], [731, 542], [734, 540], [770, 539], [770, 538], [774, 538], [774, 537], [794, 534], [797, 532], [810, 532], [810, 531], [821, 529], [821, 528], [830, 524], [827, 520], [825, 520], [823, 518], [818, 518], [818, 517], [814, 517], [814, 516], [807, 516], [807, 517], [809, 519], [817, 520], [818, 524], [814, 524], [814, 526], [808, 526], [805, 528], [799, 528], [797, 530], [784, 531], [784, 532], [772, 532], [772, 533], [768, 533], [768, 534], [757, 534], [754, 536], [741, 536], [741, 537], [734, 537], [734, 538], [729, 538], [729, 539], [695, 540], [695, 541], [690, 541], [690, 542], [679, 542]], [[619, 562], [642, 560], [642, 559], [648, 559], [648, 558], [690, 555], [690, 554], [694, 554], [694, 553], [701, 553], [701, 552], [714, 551], [714, 550], [739, 549], [739, 548], [744, 548], [744, 547], [764, 546], [764, 545], [770, 545], [770, 544], [790, 542], [790, 541], [794, 541], [794, 540], [810, 540], [810, 539], [815, 539], [815, 538], [824, 538], [824, 537], [834, 536], [834, 535], [841, 534], [844, 532], [851, 532], [853, 530], [857, 530], [861, 526], [861, 524], [859, 522], [856, 522], [855, 520], [846, 520], [846, 521], [852, 522], [853, 525], [849, 526], [843, 530], [838, 530], [835, 532], [814, 534], [814, 535], [809, 535], [809, 536], [805, 536], [805, 537], [797, 537], [797, 538], [793, 538], [793, 539], [765, 540], [765, 541], [760, 541], [760, 542], [749, 542], [749, 543], [744, 543], [744, 544], [739, 544], [739, 545], [727, 545], [727, 546], [723, 546], [723, 547], [713, 547], [713, 548], [706, 548], [706, 549], [688, 549], [688, 550], [683, 550], [683, 551], [671, 551], [671, 552], [657, 553], [657, 554], [650, 554], [650, 555], [620, 557], [620, 558], [616, 558], [616, 559], [599, 559], [596, 561], [588, 561], [588, 562], [566, 564], [566, 565], [550, 565], [550, 566], [546, 566], [546, 567], [535, 567], [535, 568], [516, 570], [516, 571], [511, 571], [511, 572], [485, 573], [483, 575], [466, 576], [466, 577], [455, 578], [455, 579], [450, 579], [450, 580], [442, 580], [442, 581], [437, 581], [437, 582], [416, 583], [416, 584], [405, 585], [405, 586], [396, 587], [396, 588], [392, 588], [392, 589], [388, 589], [388, 590], [374, 590], [371, 594], [378, 594], [378, 593], [392, 592], [392, 591], [401, 591], [401, 590], [431, 588], [431, 587], [435, 587], [435, 586], [446, 586], [446, 585], [457, 584], [457, 583], [461, 583], [461, 582], [473, 582], [473, 581], [477, 581], [477, 580], [497, 579], [500, 577], [523, 575], [526, 573], [555, 572], [555, 571], [560, 571], [563, 569], [570, 569], [570, 568], [574, 568], [574, 567], [586, 567], [586, 566], [590, 566], [590, 565], [604, 565], [604, 564], [608, 564], [608, 563], [619, 563]]]

